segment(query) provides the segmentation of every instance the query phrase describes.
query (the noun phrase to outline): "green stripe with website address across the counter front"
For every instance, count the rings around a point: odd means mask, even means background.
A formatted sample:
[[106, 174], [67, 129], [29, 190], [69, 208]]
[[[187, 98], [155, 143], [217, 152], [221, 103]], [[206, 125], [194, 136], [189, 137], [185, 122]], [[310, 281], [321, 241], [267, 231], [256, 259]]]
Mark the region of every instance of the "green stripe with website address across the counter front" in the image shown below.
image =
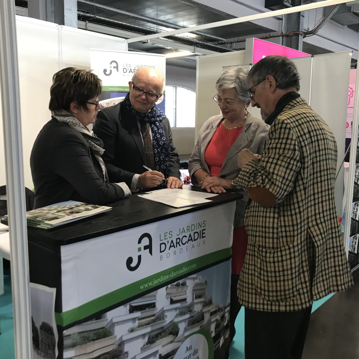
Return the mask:
[[57, 325], [67, 326], [73, 322], [86, 318], [94, 313], [102, 311], [116, 303], [122, 302], [127, 298], [134, 297], [137, 294], [146, 292], [151, 288], [159, 286], [169, 280], [176, 280], [176, 278], [183, 276], [183, 274], [200, 271], [201, 268], [210, 265], [211, 263], [228, 258], [232, 254], [232, 248], [225, 248], [201, 257], [197, 257], [190, 261], [178, 264], [174, 267], [165, 269], [156, 274], [152, 274], [134, 283], [125, 285], [122, 288], [116, 289], [113, 292], [107, 293], [96, 299], [90, 300], [81, 306], [70, 309], [63, 313], [55, 313], [55, 320]]

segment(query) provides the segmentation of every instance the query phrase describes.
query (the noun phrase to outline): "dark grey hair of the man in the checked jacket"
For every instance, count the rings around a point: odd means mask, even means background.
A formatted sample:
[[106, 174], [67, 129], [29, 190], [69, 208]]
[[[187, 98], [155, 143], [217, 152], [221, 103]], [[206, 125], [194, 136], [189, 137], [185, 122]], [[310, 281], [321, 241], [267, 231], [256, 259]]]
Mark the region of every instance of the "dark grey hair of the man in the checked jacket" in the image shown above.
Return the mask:
[[282, 90], [294, 87], [300, 89], [299, 73], [297, 67], [288, 57], [280, 55], [270, 55], [258, 61], [249, 71], [248, 80], [253, 85], [264, 81], [267, 75], [274, 77], [276, 85]]

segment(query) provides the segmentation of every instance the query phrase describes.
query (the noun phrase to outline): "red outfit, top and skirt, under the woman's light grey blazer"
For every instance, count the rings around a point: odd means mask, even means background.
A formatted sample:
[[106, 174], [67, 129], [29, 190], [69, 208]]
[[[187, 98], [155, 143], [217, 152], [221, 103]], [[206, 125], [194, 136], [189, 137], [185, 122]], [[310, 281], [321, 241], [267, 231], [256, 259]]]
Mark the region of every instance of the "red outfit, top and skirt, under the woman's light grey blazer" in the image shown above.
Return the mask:
[[[237, 129], [226, 130], [222, 123], [218, 126], [204, 153], [204, 158], [211, 176], [219, 177], [224, 159], [229, 149], [241, 134], [242, 129], [243, 126]], [[232, 244], [232, 274], [239, 274], [241, 272], [247, 243], [248, 237], [244, 226], [235, 228], [233, 230]]]

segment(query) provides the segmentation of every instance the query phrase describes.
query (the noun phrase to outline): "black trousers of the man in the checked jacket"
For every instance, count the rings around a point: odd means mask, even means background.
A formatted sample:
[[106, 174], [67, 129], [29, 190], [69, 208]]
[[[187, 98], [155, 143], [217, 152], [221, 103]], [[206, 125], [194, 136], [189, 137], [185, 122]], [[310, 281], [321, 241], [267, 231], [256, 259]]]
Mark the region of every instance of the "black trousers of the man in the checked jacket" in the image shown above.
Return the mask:
[[245, 308], [246, 359], [301, 359], [312, 306], [298, 312]]

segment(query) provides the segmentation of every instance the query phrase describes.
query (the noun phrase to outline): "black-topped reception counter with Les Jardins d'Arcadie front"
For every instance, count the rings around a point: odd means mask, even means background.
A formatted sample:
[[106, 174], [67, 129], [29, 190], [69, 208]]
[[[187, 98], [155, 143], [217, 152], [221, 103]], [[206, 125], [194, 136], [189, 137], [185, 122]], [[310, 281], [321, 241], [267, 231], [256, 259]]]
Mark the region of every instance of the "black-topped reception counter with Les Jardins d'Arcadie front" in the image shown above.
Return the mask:
[[68, 225], [29, 227], [33, 357], [227, 358], [241, 198], [177, 209], [132, 195]]

